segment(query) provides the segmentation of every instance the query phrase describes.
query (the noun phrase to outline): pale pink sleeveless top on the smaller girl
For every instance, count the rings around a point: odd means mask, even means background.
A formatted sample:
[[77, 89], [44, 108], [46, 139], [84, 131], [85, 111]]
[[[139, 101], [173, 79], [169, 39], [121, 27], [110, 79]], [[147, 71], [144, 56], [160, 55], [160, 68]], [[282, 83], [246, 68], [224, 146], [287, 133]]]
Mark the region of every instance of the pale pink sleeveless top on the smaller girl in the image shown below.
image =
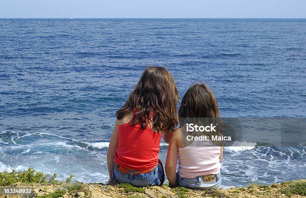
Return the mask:
[[220, 172], [220, 146], [186, 146], [178, 148], [178, 174], [194, 178]]

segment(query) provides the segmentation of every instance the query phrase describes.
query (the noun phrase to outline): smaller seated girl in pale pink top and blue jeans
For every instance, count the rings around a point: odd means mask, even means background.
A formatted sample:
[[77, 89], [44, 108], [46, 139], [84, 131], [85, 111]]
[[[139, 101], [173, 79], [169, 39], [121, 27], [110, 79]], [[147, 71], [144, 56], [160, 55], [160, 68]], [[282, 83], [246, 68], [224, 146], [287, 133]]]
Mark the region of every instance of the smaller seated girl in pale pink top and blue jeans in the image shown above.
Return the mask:
[[[178, 111], [180, 121], [182, 118], [208, 118], [220, 117], [215, 96], [205, 84], [193, 84], [182, 98]], [[194, 120], [194, 119], [193, 119]], [[193, 122], [194, 123], [194, 122]], [[223, 147], [212, 141], [190, 141], [194, 133], [183, 130], [185, 123], [180, 123], [171, 134], [165, 171], [170, 186], [180, 186], [197, 189], [214, 189], [221, 184], [220, 161]], [[178, 159], [178, 171], [176, 163]]]

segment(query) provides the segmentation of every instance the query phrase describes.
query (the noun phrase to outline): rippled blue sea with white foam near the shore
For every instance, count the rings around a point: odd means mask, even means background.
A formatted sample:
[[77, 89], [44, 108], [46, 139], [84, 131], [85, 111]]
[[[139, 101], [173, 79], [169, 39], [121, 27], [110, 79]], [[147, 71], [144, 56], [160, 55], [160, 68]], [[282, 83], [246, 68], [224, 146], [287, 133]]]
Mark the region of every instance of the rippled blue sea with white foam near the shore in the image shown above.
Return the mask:
[[[147, 65], [180, 98], [208, 84], [223, 117], [306, 116], [306, 19], [2, 18], [0, 171], [105, 182], [115, 111]], [[305, 149], [225, 147], [221, 187], [304, 178]]]

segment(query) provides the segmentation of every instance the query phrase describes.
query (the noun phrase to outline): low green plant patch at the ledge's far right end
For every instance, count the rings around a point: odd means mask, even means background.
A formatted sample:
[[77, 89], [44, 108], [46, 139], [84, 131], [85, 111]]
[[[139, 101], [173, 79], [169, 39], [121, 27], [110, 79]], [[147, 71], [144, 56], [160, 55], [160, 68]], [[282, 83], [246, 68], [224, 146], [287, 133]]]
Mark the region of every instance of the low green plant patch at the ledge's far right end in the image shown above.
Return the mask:
[[286, 187], [278, 190], [282, 194], [287, 196], [291, 196], [293, 194], [306, 195], [306, 180], [283, 182], [282, 184], [287, 185]]

